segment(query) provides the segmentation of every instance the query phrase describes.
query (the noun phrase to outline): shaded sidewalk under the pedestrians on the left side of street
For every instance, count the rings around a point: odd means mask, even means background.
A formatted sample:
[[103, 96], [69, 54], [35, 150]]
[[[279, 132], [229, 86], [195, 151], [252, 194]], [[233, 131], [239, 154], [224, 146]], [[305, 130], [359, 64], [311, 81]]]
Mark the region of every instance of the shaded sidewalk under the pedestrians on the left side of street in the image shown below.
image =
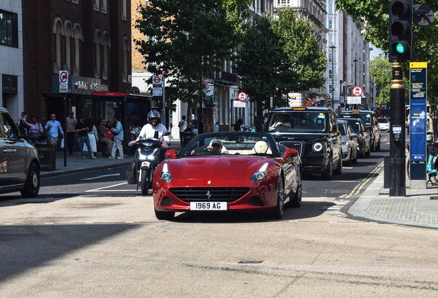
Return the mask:
[[[181, 149], [180, 140], [171, 139], [170, 148], [179, 151]], [[86, 172], [92, 170], [103, 170], [118, 166], [126, 166], [126, 168], [128, 168], [129, 164], [134, 160], [134, 156], [127, 156], [123, 159], [110, 159], [108, 157], [103, 157], [102, 152], [97, 152], [96, 159], [90, 159], [87, 152], [84, 152], [84, 155], [85, 157], [87, 157], [87, 159], [82, 159], [78, 151], [74, 151], [73, 155], [68, 155], [67, 149], [67, 166], [64, 166], [64, 151], [57, 151], [56, 170], [41, 171], [41, 178], [48, 178], [65, 174], [74, 174], [78, 172]]]

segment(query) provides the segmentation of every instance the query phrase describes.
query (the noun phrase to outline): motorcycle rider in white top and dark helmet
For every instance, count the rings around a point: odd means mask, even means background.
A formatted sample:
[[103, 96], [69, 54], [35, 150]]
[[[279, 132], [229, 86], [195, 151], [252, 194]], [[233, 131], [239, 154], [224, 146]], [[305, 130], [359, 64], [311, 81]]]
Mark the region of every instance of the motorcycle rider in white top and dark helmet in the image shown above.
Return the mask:
[[[163, 161], [165, 159], [165, 152], [170, 146], [170, 137], [168, 135], [163, 137], [163, 133], [167, 132], [167, 128], [160, 123], [160, 117], [160, 112], [157, 110], [151, 110], [147, 113], [147, 121], [149, 121], [149, 123], [140, 130], [136, 141], [140, 139], [163, 140], [160, 146], [160, 159]], [[161, 139], [161, 137], [163, 137], [163, 139]]]

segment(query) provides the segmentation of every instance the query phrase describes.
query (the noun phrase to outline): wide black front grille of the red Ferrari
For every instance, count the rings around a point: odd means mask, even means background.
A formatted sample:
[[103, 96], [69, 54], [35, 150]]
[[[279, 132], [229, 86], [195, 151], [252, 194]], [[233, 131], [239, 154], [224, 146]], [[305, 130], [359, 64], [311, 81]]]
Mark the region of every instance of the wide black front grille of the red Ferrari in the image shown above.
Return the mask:
[[171, 194], [178, 199], [190, 203], [191, 201], [237, 201], [247, 195], [249, 188], [170, 188]]

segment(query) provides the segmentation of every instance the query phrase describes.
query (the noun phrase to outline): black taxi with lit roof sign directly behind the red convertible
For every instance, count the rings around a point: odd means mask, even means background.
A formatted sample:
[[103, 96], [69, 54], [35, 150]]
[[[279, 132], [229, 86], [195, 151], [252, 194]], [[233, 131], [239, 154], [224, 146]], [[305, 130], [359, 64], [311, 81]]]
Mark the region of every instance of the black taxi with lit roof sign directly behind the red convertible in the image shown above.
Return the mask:
[[266, 132], [275, 141], [300, 152], [303, 173], [322, 173], [324, 179], [342, 174], [342, 140], [331, 108], [275, 108]]

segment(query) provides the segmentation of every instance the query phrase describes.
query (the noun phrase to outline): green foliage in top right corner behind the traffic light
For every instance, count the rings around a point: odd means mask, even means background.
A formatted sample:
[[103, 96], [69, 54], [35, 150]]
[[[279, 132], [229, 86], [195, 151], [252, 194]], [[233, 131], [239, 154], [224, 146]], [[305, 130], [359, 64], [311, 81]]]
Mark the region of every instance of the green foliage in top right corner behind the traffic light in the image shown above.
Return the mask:
[[[336, 0], [337, 9], [346, 12], [364, 26], [364, 37], [373, 46], [388, 54], [388, 0]], [[414, 2], [414, 4], [416, 4]], [[420, 4], [420, 3], [419, 3]], [[421, 27], [413, 24], [413, 56], [411, 62], [428, 62], [428, 92], [438, 96], [438, 1], [424, 0], [421, 4], [435, 12], [435, 22]], [[409, 66], [405, 64], [405, 79]]]

